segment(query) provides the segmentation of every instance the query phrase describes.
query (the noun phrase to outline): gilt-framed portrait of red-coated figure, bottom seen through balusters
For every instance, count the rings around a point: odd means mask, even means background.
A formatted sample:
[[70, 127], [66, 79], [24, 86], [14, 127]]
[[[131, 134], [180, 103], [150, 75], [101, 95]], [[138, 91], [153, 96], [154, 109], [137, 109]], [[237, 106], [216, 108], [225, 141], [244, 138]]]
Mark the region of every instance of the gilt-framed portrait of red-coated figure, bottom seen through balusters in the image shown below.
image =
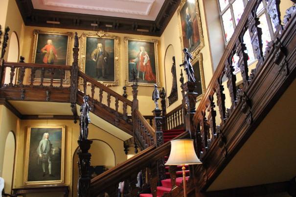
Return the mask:
[[[33, 36], [32, 64], [70, 65], [72, 32], [62, 33], [35, 29]], [[44, 82], [50, 82], [50, 74], [51, 71], [46, 70]], [[34, 81], [40, 81], [41, 70], [37, 69], [35, 76]], [[55, 69], [53, 82], [60, 83], [60, 70], [58, 69]], [[69, 83], [69, 72], [66, 72], [63, 83]]]

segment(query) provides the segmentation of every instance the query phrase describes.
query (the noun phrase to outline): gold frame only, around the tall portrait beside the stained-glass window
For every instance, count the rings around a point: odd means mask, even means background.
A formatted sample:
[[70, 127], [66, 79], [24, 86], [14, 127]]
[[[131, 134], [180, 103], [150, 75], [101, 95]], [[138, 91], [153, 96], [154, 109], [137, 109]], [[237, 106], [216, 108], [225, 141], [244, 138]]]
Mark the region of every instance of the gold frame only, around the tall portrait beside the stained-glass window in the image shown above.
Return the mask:
[[[177, 10], [178, 21], [179, 21], [180, 42], [181, 42], [181, 52], [183, 52], [184, 45], [183, 45], [183, 34], [182, 34], [182, 23], [181, 23], [180, 12], [186, 2], [187, 2], [187, 0], [182, 0], [179, 7], [178, 7], [178, 10]], [[194, 0], [194, 2], [195, 2], [195, 9], [196, 9], [195, 13], [196, 13], [196, 17], [197, 17], [197, 23], [198, 23], [199, 35], [200, 35], [201, 42], [193, 51], [191, 51], [193, 58], [197, 57], [199, 55], [199, 52], [201, 51], [201, 49], [205, 46], [203, 29], [202, 29], [202, 22], [201, 22], [201, 15], [200, 15], [200, 10], [199, 10], [199, 3], [198, 3], [198, 0]], [[184, 59], [184, 57], [182, 56], [182, 60], [183, 59]]]

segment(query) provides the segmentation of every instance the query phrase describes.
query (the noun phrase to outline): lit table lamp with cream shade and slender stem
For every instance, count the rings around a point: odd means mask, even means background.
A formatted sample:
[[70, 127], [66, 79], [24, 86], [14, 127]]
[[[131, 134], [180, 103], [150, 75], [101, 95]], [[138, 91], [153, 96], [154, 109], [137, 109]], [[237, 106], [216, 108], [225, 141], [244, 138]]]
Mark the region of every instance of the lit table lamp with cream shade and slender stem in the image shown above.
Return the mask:
[[185, 165], [190, 164], [202, 164], [195, 153], [193, 139], [171, 140], [171, 153], [164, 165], [182, 165], [184, 197], [187, 197]]

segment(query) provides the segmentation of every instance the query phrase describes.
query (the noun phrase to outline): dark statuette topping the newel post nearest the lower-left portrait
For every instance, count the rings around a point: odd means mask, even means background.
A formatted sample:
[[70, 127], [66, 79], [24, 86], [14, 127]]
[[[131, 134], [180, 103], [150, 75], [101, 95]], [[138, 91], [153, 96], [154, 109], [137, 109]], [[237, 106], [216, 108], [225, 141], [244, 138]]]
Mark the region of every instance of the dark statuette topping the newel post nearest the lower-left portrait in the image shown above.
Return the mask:
[[86, 140], [89, 135], [89, 123], [91, 123], [90, 115], [89, 112], [91, 110], [88, 101], [89, 97], [84, 96], [83, 97], [84, 103], [82, 104], [80, 108], [80, 135], [79, 135], [79, 140]]

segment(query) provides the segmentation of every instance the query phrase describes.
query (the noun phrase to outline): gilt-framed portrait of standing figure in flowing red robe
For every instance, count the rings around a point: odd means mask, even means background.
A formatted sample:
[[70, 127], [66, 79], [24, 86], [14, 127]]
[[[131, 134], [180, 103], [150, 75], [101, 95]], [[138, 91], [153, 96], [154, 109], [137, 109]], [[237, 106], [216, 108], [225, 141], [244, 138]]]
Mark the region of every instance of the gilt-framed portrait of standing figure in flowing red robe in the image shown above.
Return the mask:
[[125, 85], [133, 85], [133, 69], [137, 72], [138, 86], [160, 87], [158, 67], [158, 40], [124, 38], [126, 56]]

